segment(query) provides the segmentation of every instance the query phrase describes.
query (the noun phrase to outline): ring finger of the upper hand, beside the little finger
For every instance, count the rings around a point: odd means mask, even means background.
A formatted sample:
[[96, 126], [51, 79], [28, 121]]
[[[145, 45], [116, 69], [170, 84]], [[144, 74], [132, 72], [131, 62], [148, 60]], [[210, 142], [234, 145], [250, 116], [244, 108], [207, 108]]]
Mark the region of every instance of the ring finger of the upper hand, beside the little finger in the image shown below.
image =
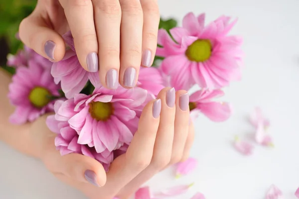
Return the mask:
[[141, 63], [143, 12], [140, 0], [120, 0], [121, 23], [121, 68], [120, 84], [135, 87]]

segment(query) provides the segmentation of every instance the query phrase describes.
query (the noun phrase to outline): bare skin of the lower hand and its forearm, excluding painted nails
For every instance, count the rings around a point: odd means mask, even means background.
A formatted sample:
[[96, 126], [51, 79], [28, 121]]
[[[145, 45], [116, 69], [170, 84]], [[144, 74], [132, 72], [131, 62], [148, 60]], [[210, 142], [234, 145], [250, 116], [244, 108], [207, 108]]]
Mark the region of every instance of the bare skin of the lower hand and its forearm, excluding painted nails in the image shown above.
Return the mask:
[[[2, 96], [7, 96], [10, 81], [11, 77], [0, 70]], [[192, 122], [189, 123], [189, 110], [182, 111], [178, 104], [179, 96], [186, 91], [177, 91], [175, 106], [168, 107], [165, 94], [169, 89], [163, 89], [157, 97], [161, 99], [158, 118], [152, 116], [154, 100], [145, 106], [128, 151], [114, 160], [108, 173], [90, 157], [61, 156], [54, 146], [55, 134], [45, 124], [46, 115], [21, 126], [10, 124], [8, 117], [13, 106], [7, 98], [0, 98], [0, 140], [21, 153], [40, 159], [55, 177], [90, 199], [112, 199], [114, 196], [128, 199], [156, 173], [189, 156], [194, 128]], [[96, 173], [101, 187], [85, 180], [86, 170]]]

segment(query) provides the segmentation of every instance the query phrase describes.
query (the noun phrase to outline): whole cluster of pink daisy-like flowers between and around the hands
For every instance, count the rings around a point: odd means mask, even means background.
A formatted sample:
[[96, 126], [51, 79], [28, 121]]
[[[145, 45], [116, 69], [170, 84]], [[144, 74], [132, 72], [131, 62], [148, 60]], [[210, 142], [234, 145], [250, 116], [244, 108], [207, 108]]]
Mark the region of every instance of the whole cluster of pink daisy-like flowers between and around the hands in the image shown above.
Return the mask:
[[158, 92], [171, 86], [187, 90], [190, 111], [220, 122], [231, 115], [227, 102], [214, 101], [223, 96], [220, 89], [240, 79], [242, 39], [228, 36], [236, 20], [221, 16], [204, 24], [204, 14], [188, 13], [182, 27], [158, 32], [156, 55], [163, 57], [158, 67], [141, 68], [137, 87], [108, 90], [101, 86], [98, 73], [80, 65], [73, 37], [63, 35], [69, 47], [63, 60], [51, 63], [27, 47], [8, 57], [16, 74], [9, 86], [9, 99], [16, 106], [10, 120], [22, 124], [53, 111], [47, 125], [57, 134], [55, 146], [61, 155], [80, 153], [95, 158], [105, 169], [124, 153], [137, 130], [145, 104]]

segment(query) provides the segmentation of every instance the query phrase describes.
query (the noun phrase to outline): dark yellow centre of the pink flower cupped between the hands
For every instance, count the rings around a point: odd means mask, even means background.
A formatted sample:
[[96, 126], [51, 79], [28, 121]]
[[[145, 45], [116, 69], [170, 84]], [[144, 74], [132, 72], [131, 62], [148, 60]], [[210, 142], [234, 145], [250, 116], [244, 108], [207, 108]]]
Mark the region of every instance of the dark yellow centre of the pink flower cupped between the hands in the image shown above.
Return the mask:
[[114, 112], [111, 102], [93, 101], [89, 103], [89, 112], [96, 120], [106, 121]]

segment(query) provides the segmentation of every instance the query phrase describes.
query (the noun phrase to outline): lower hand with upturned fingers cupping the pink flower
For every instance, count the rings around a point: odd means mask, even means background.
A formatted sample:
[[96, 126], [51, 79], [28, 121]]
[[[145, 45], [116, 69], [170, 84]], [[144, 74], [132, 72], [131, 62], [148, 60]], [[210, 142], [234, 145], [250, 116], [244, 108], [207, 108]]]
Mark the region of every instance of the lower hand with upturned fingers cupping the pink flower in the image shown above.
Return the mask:
[[145, 106], [128, 151], [114, 160], [107, 174], [88, 156], [60, 156], [45, 117], [32, 124], [30, 133], [38, 143], [40, 158], [58, 179], [90, 199], [127, 199], [153, 175], [189, 156], [194, 129], [189, 122], [188, 94], [165, 88], [157, 99]]

